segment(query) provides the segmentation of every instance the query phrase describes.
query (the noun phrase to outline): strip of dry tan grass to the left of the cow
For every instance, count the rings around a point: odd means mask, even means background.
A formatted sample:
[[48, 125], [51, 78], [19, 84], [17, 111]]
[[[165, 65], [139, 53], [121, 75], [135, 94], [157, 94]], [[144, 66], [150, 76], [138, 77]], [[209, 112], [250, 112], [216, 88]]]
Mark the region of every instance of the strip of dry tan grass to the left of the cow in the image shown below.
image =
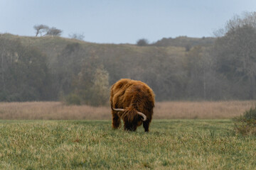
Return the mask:
[[0, 119], [26, 120], [104, 120], [110, 118], [110, 108], [65, 106], [60, 102], [0, 103]]

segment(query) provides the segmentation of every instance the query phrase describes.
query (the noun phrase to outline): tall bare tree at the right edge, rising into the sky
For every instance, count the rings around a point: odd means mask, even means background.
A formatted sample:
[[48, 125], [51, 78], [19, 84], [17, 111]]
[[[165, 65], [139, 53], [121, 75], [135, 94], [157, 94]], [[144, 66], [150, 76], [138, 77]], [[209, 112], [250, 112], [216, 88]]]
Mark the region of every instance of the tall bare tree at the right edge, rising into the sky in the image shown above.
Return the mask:
[[228, 33], [215, 42], [217, 70], [233, 82], [231, 87], [238, 97], [255, 99], [256, 29], [252, 24], [235, 25], [236, 21], [233, 22]]

